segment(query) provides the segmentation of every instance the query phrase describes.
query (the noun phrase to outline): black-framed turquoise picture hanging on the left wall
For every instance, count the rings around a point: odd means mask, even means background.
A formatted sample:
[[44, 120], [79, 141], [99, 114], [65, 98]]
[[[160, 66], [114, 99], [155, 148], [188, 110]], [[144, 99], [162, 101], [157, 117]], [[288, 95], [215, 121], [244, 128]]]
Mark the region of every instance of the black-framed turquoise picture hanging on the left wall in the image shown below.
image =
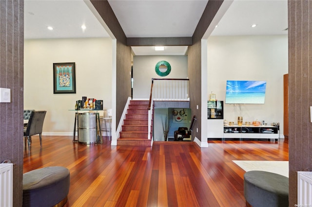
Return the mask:
[[53, 63], [53, 89], [57, 93], [76, 93], [75, 63]]

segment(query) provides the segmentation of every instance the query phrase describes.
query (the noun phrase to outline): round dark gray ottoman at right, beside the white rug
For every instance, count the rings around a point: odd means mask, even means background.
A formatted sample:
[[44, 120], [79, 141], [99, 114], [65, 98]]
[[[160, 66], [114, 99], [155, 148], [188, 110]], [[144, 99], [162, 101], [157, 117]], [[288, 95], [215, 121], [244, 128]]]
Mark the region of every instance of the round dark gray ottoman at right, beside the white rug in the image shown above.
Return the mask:
[[288, 193], [288, 177], [265, 171], [244, 174], [246, 204], [253, 207], [288, 207]]

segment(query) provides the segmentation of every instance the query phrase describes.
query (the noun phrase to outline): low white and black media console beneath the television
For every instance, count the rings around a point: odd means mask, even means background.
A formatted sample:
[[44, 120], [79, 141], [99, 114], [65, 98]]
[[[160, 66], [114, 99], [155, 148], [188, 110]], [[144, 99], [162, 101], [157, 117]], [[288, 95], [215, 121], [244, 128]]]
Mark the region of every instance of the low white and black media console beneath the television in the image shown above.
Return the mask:
[[279, 127], [269, 125], [228, 125], [223, 127], [223, 138], [274, 138], [279, 139]]

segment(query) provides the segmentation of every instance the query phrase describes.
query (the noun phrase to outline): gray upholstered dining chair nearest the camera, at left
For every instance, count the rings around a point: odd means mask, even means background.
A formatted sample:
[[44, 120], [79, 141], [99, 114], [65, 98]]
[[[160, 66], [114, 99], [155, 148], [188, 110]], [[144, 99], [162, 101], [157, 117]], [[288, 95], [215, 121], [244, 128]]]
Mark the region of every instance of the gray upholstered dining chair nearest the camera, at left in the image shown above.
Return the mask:
[[27, 128], [24, 128], [24, 139], [26, 147], [26, 138], [28, 141], [28, 149], [30, 150], [31, 136], [39, 134], [40, 148], [42, 147], [42, 127], [44, 117], [47, 111], [32, 111], [29, 117]]

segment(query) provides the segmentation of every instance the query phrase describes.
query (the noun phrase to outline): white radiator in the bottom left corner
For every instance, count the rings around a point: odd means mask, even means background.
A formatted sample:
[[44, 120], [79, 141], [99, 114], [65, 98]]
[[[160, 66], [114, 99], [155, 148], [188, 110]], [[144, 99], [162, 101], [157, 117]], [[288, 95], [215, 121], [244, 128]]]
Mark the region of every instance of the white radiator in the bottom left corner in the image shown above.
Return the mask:
[[0, 207], [13, 206], [13, 164], [0, 164]]

